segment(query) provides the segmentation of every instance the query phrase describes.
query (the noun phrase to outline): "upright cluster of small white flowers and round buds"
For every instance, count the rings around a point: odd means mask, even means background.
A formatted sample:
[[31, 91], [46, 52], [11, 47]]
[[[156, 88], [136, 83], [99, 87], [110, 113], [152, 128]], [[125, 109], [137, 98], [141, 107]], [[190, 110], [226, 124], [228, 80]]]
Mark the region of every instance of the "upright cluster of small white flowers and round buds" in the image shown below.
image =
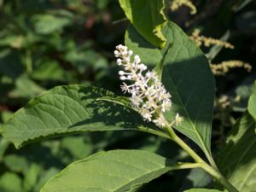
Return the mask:
[[154, 71], [145, 72], [147, 67], [141, 63], [140, 57], [134, 55], [132, 59], [133, 52], [124, 45], [116, 46], [114, 55], [118, 58], [117, 64], [125, 69], [119, 71], [120, 79], [133, 82], [133, 84], [121, 85], [123, 92], [131, 94], [132, 107], [137, 109], [144, 120], [165, 126], [166, 119], [162, 113], [171, 109], [171, 95], [166, 91], [157, 74]]

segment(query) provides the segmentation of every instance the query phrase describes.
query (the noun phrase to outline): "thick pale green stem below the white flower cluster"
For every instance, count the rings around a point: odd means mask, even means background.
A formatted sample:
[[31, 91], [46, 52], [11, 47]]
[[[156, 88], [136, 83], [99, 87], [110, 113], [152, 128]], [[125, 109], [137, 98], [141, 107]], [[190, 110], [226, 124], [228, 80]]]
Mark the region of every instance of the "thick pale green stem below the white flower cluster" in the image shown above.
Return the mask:
[[202, 169], [211, 174], [212, 177], [215, 177], [230, 192], [238, 192], [238, 190], [218, 171], [218, 168], [214, 160], [212, 159], [212, 155], [209, 155], [210, 158], [207, 157], [211, 164], [211, 166], [209, 166], [207, 162], [205, 160], [202, 160], [201, 157], [196, 154], [192, 148], [184, 143], [182, 139], [177, 137], [176, 133], [172, 130], [172, 126], [170, 126], [169, 124], [166, 125], [166, 131], [172, 137], [172, 140], [176, 142], [181, 148], [183, 148], [195, 160], [195, 162], [200, 163]]

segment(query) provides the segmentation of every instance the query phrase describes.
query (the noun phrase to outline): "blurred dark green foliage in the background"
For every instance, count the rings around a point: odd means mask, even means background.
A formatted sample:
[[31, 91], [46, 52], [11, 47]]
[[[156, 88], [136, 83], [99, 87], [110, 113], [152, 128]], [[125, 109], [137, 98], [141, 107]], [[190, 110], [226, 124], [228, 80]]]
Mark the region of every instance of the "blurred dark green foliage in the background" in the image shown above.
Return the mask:
[[[217, 100], [225, 95], [229, 102], [226, 107], [216, 104], [212, 150], [218, 154], [234, 119], [247, 107], [256, 79], [256, 3], [193, 2], [196, 15], [190, 15], [185, 7], [172, 12], [170, 1], [166, 1], [166, 15], [189, 35], [195, 28], [212, 38], [230, 32], [229, 42], [235, 49], [222, 49], [214, 63], [241, 60], [253, 67], [251, 73], [237, 68], [216, 77]], [[117, 0], [0, 0], [0, 123], [56, 85], [91, 84], [120, 94], [113, 49], [123, 44], [128, 25]], [[202, 49], [206, 53], [210, 50]], [[240, 99], [236, 101], [237, 96]], [[174, 143], [133, 131], [61, 137], [19, 150], [0, 137], [0, 191], [39, 191], [74, 160], [115, 148], [140, 148], [178, 160], [189, 158]], [[137, 191], [183, 191], [212, 185], [206, 172], [195, 169], [168, 173]]]

